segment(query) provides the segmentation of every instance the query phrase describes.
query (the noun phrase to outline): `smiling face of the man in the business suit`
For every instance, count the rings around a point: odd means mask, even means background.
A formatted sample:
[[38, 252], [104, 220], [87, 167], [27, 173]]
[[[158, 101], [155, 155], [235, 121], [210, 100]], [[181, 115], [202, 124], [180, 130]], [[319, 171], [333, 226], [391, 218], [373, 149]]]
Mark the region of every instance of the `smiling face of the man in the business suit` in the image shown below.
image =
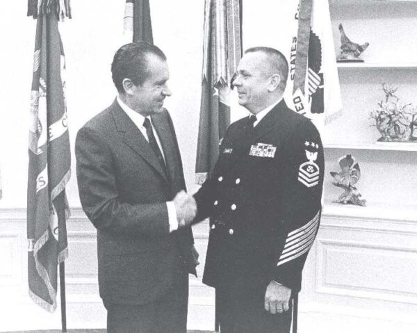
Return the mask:
[[152, 115], [163, 111], [165, 97], [171, 95], [167, 86], [170, 72], [165, 60], [154, 54], [147, 54], [147, 78], [142, 85], [131, 83], [129, 91], [129, 106], [136, 112], [144, 115]]

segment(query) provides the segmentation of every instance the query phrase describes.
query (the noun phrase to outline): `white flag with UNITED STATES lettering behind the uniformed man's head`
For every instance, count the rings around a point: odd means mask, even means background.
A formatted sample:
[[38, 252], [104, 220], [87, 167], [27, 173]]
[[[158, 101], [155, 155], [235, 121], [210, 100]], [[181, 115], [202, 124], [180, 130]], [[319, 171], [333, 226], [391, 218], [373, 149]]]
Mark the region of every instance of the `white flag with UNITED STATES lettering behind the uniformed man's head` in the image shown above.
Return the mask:
[[293, 13], [297, 34], [293, 33], [291, 47], [287, 47], [291, 60], [284, 98], [322, 133], [325, 124], [342, 112], [329, 3], [300, 0]]

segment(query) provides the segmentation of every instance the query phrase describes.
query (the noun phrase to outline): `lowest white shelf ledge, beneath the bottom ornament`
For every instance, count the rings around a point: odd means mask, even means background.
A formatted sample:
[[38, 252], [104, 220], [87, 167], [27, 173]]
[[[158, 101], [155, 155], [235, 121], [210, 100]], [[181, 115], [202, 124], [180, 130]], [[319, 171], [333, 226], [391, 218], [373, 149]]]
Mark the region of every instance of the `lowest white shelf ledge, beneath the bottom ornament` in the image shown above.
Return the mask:
[[375, 202], [367, 202], [366, 206], [357, 206], [325, 201], [323, 215], [417, 222], [417, 206]]

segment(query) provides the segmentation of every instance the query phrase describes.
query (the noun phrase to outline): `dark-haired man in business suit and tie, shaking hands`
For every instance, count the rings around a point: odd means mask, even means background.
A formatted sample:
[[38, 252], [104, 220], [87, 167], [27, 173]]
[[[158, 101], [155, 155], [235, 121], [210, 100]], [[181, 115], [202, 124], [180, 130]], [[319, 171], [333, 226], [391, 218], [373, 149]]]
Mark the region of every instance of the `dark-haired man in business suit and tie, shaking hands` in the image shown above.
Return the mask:
[[107, 332], [185, 333], [196, 208], [163, 108], [166, 58], [154, 45], [126, 44], [111, 70], [118, 96], [79, 130], [75, 148], [81, 204], [97, 228]]

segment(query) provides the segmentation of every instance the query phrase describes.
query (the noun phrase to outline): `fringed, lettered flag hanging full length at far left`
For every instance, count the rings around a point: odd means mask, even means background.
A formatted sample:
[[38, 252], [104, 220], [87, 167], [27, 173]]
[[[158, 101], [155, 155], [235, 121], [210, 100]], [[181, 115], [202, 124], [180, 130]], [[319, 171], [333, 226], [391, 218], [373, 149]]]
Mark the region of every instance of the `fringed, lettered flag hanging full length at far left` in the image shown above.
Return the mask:
[[57, 266], [68, 254], [65, 185], [71, 156], [58, 19], [70, 17], [70, 7], [67, 1], [29, 0], [28, 15], [38, 18], [28, 145], [28, 284], [34, 302], [52, 312]]

